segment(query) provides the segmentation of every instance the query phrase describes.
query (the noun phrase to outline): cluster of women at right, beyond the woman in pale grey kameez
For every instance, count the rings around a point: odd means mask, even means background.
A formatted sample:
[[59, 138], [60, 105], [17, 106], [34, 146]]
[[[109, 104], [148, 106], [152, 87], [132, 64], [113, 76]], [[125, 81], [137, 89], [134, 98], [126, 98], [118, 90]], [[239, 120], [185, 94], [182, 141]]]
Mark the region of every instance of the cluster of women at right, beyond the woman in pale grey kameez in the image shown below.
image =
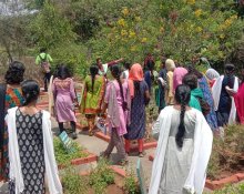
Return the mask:
[[[214, 69], [200, 72], [193, 65], [175, 67], [174, 61], [163, 61], [159, 73], [159, 99], [161, 104], [174, 104], [174, 93], [179, 84], [191, 88], [190, 106], [201, 111], [212, 131], [218, 134], [227, 124], [243, 123], [243, 78], [234, 75], [235, 67], [224, 65], [225, 74], [220, 75]], [[243, 76], [243, 74], [241, 75]], [[159, 105], [160, 111], [163, 105]], [[237, 113], [237, 114], [236, 114]]]

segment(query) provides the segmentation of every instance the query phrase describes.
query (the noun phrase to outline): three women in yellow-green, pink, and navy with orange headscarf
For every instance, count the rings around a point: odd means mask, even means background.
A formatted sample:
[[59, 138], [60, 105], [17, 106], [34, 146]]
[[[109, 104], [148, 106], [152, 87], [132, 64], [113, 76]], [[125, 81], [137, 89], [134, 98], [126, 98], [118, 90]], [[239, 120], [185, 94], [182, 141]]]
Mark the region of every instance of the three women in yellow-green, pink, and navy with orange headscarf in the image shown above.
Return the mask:
[[111, 65], [110, 70], [112, 80], [108, 81], [104, 73], [99, 73], [101, 71], [98, 65], [90, 67], [80, 110], [88, 120], [90, 135], [93, 135], [96, 115], [109, 121], [111, 141], [102, 155], [109, 157], [115, 146], [121, 155], [121, 163], [124, 164], [131, 140], [138, 140], [139, 155], [144, 155], [145, 105], [150, 101], [150, 92], [139, 63], [130, 68], [128, 78], [126, 70], [122, 72], [116, 64]]

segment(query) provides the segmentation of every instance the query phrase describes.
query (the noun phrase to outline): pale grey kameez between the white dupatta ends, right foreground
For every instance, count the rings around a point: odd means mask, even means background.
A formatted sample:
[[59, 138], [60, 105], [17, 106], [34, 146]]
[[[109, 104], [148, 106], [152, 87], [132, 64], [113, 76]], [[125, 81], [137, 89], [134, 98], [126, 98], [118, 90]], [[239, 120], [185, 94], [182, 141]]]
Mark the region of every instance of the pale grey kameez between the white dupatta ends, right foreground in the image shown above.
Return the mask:
[[184, 119], [185, 135], [183, 147], [179, 149], [175, 142], [175, 136], [180, 123], [180, 113], [181, 112], [177, 110], [173, 110], [172, 113], [172, 124], [159, 194], [182, 194], [184, 182], [190, 172], [194, 147], [193, 137], [196, 116], [194, 111], [186, 111]]

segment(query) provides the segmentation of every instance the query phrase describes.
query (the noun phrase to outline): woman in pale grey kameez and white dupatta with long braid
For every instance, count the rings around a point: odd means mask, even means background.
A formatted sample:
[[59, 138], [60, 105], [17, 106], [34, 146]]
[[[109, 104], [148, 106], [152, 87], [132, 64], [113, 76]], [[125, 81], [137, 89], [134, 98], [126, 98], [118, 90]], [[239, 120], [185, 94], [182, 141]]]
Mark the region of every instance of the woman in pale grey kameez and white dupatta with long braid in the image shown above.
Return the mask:
[[203, 114], [189, 106], [187, 85], [179, 85], [174, 98], [176, 104], [163, 109], [153, 126], [159, 141], [149, 194], [201, 194], [213, 134]]

